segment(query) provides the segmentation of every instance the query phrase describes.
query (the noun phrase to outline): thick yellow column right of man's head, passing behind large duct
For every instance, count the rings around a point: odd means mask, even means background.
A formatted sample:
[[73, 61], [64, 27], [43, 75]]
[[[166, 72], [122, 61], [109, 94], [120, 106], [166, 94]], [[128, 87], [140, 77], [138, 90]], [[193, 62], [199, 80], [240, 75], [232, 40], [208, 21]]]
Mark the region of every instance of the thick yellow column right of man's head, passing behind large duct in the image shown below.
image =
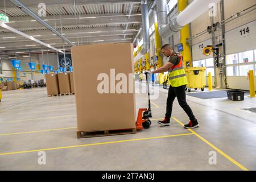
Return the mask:
[[[178, 0], [178, 10], [183, 11], [188, 5], [187, 0]], [[188, 24], [184, 26], [180, 30], [180, 43], [183, 45], [183, 51], [181, 51], [181, 55], [183, 56], [183, 64], [186, 66], [187, 62], [189, 62], [189, 67], [191, 67], [191, 49], [189, 44], [187, 43], [187, 38], [189, 38], [189, 26]]]

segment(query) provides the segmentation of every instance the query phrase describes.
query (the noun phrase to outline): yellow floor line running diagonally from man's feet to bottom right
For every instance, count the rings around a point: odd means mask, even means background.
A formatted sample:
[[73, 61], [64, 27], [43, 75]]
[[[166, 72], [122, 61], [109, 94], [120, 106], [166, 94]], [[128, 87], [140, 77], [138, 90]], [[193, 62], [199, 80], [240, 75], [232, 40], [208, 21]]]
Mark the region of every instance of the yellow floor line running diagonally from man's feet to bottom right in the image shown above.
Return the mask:
[[[175, 119], [175, 121], [177, 121], [178, 123], [180, 123], [180, 125], [184, 126], [183, 123], [181, 123], [178, 119]], [[214, 150], [216, 150], [218, 153], [220, 153], [222, 156], [224, 156], [226, 159], [228, 159], [230, 162], [232, 162], [233, 164], [236, 164], [236, 166], [238, 166], [239, 168], [241, 168], [243, 171], [249, 171], [249, 169], [245, 168], [244, 166], [242, 166], [242, 164], [238, 163], [236, 160], [234, 160], [233, 158], [231, 158], [230, 156], [228, 156], [227, 154], [225, 154], [223, 151], [221, 151], [219, 148], [217, 148], [216, 146], [214, 146], [212, 143], [210, 143], [208, 140], [206, 140], [205, 138], [201, 137], [199, 134], [197, 134], [195, 131], [188, 129], [189, 131], [191, 131], [192, 134], [195, 134], [196, 137], [200, 138], [201, 140], [203, 140], [203, 142], [207, 143], [210, 147], [212, 147]]]

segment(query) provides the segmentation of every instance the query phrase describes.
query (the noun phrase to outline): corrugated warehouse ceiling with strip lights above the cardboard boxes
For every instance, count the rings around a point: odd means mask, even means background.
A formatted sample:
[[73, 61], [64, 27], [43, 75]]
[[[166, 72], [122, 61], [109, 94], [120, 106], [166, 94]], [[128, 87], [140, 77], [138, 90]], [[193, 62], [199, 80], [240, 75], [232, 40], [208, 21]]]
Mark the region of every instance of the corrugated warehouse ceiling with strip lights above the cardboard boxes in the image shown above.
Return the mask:
[[[76, 45], [103, 42], [133, 42], [141, 26], [141, 1], [139, 0], [23, 0], [20, 1], [36, 14], [46, 5], [49, 25]], [[148, 1], [148, 6], [152, 1]], [[58, 49], [70, 49], [68, 43], [53, 34], [34, 18], [24, 13], [9, 0], [0, 1], [0, 13], [9, 16], [8, 26], [34, 36]], [[36, 45], [36, 46], [34, 46]], [[30, 39], [0, 27], [0, 54], [15, 55], [16, 52], [49, 49]], [[52, 50], [51, 50], [52, 51]]]

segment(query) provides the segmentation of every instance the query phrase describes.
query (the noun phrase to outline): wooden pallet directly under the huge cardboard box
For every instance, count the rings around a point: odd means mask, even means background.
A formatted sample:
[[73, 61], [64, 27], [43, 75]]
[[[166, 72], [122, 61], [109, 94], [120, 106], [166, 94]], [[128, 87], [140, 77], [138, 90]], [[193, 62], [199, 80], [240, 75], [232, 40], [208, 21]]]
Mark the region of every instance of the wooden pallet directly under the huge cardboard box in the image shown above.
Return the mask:
[[77, 138], [104, 137], [111, 135], [125, 135], [137, 133], [136, 129], [101, 130], [101, 131], [77, 131]]

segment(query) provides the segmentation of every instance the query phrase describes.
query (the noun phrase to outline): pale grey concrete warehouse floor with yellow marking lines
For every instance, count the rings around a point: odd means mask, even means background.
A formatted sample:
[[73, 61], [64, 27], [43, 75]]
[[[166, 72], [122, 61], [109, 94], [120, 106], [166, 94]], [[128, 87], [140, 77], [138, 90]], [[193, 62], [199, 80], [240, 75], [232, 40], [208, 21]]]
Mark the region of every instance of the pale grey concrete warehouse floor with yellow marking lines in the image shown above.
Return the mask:
[[[137, 91], [144, 86], [136, 85]], [[150, 129], [82, 139], [76, 138], [74, 95], [47, 97], [46, 88], [2, 92], [0, 170], [256, 170], [256, 115], [241, 110], [256, 107], [256, 98], [187, 96], [200, 127], [186, 130], [177, 101], [171, 126], [156, 123], [164, 117], [166, 92], [160, 89], [152, 101]], [[137, 109], [147, 106], [147, 94], [137, 93], [136, 101]], [[38, 164], [39, 151], [46, 152], [46, 165]], [[211, 151], [217, 151], [212, 165]]]

